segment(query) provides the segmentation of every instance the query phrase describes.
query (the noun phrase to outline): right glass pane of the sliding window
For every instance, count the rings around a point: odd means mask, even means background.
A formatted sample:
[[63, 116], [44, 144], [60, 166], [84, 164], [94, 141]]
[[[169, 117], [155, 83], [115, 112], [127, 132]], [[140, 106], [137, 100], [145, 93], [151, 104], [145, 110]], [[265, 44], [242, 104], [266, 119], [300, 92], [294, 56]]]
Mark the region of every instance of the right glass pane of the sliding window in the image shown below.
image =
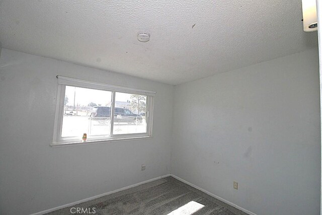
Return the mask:
[[147, 97], [115, 93], [113, 134], [146, 133]]

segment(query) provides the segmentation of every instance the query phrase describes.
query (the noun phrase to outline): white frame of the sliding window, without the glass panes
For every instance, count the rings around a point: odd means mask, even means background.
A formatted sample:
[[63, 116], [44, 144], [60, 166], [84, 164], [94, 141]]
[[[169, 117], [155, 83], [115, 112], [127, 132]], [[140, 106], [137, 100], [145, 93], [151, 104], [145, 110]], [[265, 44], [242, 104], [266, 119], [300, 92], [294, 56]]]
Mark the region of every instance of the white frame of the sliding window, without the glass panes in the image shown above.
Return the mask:
[[[53, 135], [53, 142], [51, 146], [61, 146], [61, 145], [71, 145], [71, 144], [84, 145], [84, 144], [108, 142], [112, 140], [137, 139], [137, 138], [146, 138], [146, 137], [152, 136], [153, 99], [154, 99], [155, 92], [132, 89], [127, 87], [115, 86], [115, 85], [107, 85], [107, 84], [84, 81], [84, 80], [79, 80], [74, 78], [63, 77], [63, 76], [57, 76], [57, 80], [58, 80], [58, 90], [57, 90], [57, 97], [56, 97], [54, 135]], [[81, 136], [72, 136], [72, 137], [61, 136], [66, 86], [89, 88], [89, 89], [95, 89], [95, 90], [105, 90], [105, 91], [112, 92], [110, 135], [88, 136], [88, 139], [85, 143], [82, 141]], [[145, 114], [146, 115], [145, 133], [113, 134], [115, 95], [117, 92], [144, 95], [147, 97], [147, 101], [146, 101], [147, 111]]]

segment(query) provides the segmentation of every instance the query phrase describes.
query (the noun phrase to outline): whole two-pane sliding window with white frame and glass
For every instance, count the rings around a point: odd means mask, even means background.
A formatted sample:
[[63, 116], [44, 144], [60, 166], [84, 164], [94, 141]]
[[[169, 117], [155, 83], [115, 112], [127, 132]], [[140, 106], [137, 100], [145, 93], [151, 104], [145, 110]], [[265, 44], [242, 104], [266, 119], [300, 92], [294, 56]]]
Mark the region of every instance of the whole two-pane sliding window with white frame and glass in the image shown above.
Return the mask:
[[52, 146], [151, 136], [155, 92], [57, 78]]

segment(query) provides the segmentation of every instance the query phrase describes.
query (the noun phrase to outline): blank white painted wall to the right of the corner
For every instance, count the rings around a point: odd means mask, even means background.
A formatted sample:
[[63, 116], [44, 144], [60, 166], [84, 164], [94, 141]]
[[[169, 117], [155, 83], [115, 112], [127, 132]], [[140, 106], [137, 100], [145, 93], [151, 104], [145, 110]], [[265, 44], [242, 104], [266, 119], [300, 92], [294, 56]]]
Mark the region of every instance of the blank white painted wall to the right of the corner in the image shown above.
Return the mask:
[[319, 107], [317, 49], [176, 86], [172, 174], [256, 214], [319, 214]]

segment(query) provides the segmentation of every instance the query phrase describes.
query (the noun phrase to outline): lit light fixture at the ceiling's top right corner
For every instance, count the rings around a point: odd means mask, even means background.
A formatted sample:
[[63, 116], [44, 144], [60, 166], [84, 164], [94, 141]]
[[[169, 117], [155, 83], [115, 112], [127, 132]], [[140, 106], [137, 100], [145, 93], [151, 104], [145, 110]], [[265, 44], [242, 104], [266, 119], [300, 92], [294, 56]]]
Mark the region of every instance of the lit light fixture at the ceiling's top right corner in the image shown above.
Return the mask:
[[316, 1], [302, 0], [302, 12], [303, 12], [303, 30], [316, 31], [317, 30]]

